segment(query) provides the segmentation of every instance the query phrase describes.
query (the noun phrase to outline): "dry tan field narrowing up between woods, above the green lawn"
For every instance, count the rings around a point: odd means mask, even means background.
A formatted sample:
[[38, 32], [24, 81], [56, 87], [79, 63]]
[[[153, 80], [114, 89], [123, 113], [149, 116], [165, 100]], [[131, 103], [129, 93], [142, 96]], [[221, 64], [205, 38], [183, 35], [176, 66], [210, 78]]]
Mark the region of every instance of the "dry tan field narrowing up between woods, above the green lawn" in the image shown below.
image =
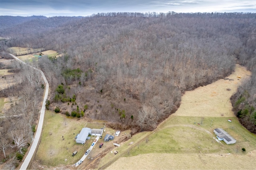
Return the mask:
[[[230, 97], [244, 79], [250, 78], [250, 71], [236, 65], [234, 73], [204, 87], [186, 91], [180, 108], [173, 115], [193, 117], [234, 117]], [[238, 78], [241, 77], [241, 78]], [[227, 90], [229, 89], [229, 90]]]

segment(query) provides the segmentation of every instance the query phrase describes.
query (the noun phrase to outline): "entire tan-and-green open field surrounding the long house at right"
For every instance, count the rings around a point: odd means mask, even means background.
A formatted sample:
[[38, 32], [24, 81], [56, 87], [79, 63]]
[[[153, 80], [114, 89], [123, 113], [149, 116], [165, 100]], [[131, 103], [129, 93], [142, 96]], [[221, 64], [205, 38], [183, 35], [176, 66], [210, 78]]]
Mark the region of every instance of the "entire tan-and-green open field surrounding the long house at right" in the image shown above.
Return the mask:
[[[141, 134], [121, 145], [120, 158], [107, 169], [255, 169], [252, 160], [256, 156], [256, 135], [240, 125], [229, 101], [240, 81], [249, 75], [250, 72], [237, 65], [236, 71], [228, 76], [234, 81], [220, 79], [186, 92], [175, 114], [134, 143], [134, 147], [129, 148], [127, 143]], [[237, 76], [242, 79], [238, 80]], [[214, 128], [226, 130], [236, 138], [236, 144], [218, 141]], [[246, 152], [242, 152], [243, 147]], [[109, 155], [105, 157], [110, 159]], [[106, 162], [104, 158], [100, 167], [104, 166], [103, 162]]]

